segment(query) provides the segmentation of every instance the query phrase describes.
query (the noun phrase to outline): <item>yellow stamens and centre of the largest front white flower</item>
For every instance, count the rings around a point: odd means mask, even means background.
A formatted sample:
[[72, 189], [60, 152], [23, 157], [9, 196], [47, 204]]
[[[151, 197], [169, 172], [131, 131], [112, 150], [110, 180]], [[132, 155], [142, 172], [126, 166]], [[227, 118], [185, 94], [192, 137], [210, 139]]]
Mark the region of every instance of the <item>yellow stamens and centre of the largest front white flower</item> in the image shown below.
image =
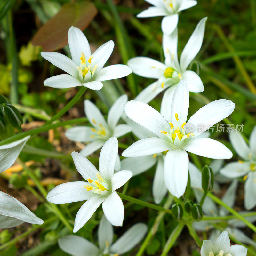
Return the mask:
[[178, 138], [179, 142], [180, 142], [183, 136], [186, 136], [187, 138], [189, 138], [189, 136], [191, 136], [191, 137], [194, 136], [193, 133], [185, 132], [186, 123], [180, 124], [178, 113], [175, 114], [175, 119], [176, 119], [176, 122], [174, 124], [172, 124], [172, 122], [169, 123], [171, 126], [169, 132], [162, 131], [162, 130], [160, 130], [159, 132], [165, 134], [170, 140], [173, 141], [173, 143], [175, 143], [176, 138]]

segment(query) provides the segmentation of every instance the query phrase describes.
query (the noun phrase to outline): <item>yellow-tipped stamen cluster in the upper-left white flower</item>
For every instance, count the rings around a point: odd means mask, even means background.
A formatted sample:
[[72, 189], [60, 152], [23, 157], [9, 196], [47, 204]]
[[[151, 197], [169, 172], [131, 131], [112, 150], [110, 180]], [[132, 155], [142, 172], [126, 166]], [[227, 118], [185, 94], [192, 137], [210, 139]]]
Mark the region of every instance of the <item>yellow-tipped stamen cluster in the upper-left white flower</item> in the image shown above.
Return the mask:
[[[87, 80], [87, 81], [91, 80], [92, 76], [94, 75], [94, 73], [96, 71], [96, 69], [98, 68], [97, 64], [92, 67], [92, 64], [91, 64], [92, 58], [93, 58], [93, 54], [88, 58], [88, 64], [87, 64], [84, 52], [81, 52], [80, 66], [76, 66], [76, 68], [79, 71], [80, 76], [83, 77], [84, 82], [85, 82], [85, 80]], [[85, 77], [87, 79], [85, 79]]]

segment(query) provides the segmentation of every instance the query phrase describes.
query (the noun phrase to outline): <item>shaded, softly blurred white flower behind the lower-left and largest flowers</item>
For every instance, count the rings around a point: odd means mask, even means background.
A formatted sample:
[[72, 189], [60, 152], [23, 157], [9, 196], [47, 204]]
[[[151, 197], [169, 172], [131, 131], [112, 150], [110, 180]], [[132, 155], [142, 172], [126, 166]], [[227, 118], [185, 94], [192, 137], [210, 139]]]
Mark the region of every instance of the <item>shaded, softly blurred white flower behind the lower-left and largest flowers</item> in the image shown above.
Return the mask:
[[[84, 112], [91, 126], [76, 126], [66, 131], [65, 135], [69, 140], [89, 143], [82, 150], [81, 154], [89, 156], [112, 136], [121, 137], [130, 132], [132, 128], [127, 124], [117, 124], [124, 113], [124, 105], [127, 102], [127, 95], [120, 96], [112, 105], [108, 112], [107, 122], [90, 100], [84, 101]], [[119, 157], [118, 157], [119, 158]]]

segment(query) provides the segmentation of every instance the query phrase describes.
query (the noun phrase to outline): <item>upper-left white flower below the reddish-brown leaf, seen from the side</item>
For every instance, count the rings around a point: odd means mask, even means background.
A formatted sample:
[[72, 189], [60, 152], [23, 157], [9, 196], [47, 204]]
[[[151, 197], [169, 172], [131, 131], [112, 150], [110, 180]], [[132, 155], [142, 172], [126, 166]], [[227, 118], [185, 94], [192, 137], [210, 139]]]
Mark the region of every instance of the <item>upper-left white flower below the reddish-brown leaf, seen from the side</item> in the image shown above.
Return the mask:
[[92, 54], [83, 32], [72, 26], [68, 30], [68, 45], [72, 60], [58, 52], [41, 52], [44, 59], [69, 74], [46, 79], [45, 86], [70, 88], [83, 85], [92, 90], [100, 90], [103, 86], [101, 81], [124, 77], [132, 73], [126, 65], [118, 64], [103, 68], [114, 48], [112, 40], [102, 44]]

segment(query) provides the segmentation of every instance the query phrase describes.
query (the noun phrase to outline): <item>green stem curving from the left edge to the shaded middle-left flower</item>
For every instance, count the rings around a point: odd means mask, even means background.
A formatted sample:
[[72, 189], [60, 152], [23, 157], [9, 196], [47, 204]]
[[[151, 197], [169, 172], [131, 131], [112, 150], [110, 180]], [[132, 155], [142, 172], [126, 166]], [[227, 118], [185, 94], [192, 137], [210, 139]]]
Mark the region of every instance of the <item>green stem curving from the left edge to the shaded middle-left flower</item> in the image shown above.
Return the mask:
[[7, 138], [6, 140], [2, 140], [2, 141], [0, 141], [0, 145], [11, 143], [13, 141], [23, 139], [24, 137], [26, 137], [28, 135], [30, 135], [30, 136], [31, 135], [36, 135], [36, 134], [39, 134], [41, 132], [49, 131], [51, 129], [62, 127], [62, 126], [65, 126], [65, 125], [84, 123], [87, 120], [88, 119], [86, 117], [81, 117], [81, 118], [76, 118], [76, 119], [72, 119], [72, 120], [68, 120], [68, 121], [64, 121], [64, 122], [59, 122], [59, 123], [56, 123], [56, 124], [48, 124], [48, 125], [45, 125], [45, 126], [42, 125], [41, 127], [38, 127], [36, 129], [29, 130], [27, 132], [22, 132], [22, 133], [14, 135], [10, 138]]

